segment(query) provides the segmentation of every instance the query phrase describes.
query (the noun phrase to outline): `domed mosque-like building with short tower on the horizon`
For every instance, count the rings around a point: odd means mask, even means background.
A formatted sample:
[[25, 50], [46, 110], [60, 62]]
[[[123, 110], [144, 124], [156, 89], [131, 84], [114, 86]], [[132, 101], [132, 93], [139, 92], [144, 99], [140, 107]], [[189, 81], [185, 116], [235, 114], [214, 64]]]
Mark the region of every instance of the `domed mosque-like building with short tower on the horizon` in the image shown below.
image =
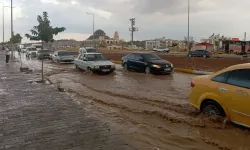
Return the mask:
[[[114, 37], [110, 38], [106, 33], [99, 29], [94, 32], [87, 40], [83, 41], [85, 47], [112, 47], [120, 46], [119, 34], [117, 31], [114, 33]], [[114, 48], [115, 49], [115, 48]]]

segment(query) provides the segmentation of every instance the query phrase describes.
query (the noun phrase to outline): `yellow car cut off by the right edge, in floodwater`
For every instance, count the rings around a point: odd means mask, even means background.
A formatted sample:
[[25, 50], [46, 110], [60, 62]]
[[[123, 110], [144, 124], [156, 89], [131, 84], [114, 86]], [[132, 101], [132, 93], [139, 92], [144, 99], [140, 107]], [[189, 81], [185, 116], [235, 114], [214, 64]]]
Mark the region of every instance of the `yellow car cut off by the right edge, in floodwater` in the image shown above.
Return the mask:
[[202, 113], [250, 128], [250, 63], [195, 77], [191, 88], [190, 103]]

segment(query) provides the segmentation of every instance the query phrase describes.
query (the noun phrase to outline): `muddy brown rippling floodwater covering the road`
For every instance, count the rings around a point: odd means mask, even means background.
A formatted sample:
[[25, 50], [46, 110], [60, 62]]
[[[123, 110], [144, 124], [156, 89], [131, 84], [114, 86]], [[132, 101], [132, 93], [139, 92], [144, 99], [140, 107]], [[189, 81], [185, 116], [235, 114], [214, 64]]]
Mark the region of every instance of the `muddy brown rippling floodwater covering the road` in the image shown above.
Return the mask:
[[[39, 70], [40, 61], [24, 60]], [[249, 150], [249, 130], [202, 116], [188, 103], [194, 75], [145, 75], [119, 65], [110, 75], [45, 61], [45, 74], [90, 115], [116, 128], [138, 149]]]

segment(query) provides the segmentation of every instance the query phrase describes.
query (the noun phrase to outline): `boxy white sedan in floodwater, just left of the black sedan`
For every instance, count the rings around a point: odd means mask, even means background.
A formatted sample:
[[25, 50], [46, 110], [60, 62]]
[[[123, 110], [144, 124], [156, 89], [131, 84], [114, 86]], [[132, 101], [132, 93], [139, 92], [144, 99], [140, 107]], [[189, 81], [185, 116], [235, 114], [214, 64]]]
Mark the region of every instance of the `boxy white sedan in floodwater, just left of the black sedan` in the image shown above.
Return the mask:
[[111, 73], [115, 64], [107, 60], [101, 53], [82, 53], [75, 59], [76, 68], [93, 72]]

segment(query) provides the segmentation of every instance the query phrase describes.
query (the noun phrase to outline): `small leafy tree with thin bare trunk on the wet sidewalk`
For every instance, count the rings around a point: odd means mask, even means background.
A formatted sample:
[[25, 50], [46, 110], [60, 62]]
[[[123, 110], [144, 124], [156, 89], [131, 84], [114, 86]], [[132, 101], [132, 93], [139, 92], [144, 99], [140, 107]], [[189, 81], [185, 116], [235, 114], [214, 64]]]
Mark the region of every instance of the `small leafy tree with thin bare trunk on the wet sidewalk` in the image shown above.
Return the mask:
[[[53, 28], [50, 25], [47, 12], [43, 12], [43, 16], [38, 15], [37, 21], [38, 21], [38, 25], [34, 26], [33, 29], [30, 30], [31, 34], [25, 34], [25, 36], [30, 40], [42, 41], [42, 49], [43, 49], [44, 42], [45, 43], [53, 42], [54, 35], [57, 35], [58, 33], [66, 30], [65, 27]], [[43, 58], [42, 58], [42, 82], [43, 81], [44, 81], [44, 77], [43, 77]]]

